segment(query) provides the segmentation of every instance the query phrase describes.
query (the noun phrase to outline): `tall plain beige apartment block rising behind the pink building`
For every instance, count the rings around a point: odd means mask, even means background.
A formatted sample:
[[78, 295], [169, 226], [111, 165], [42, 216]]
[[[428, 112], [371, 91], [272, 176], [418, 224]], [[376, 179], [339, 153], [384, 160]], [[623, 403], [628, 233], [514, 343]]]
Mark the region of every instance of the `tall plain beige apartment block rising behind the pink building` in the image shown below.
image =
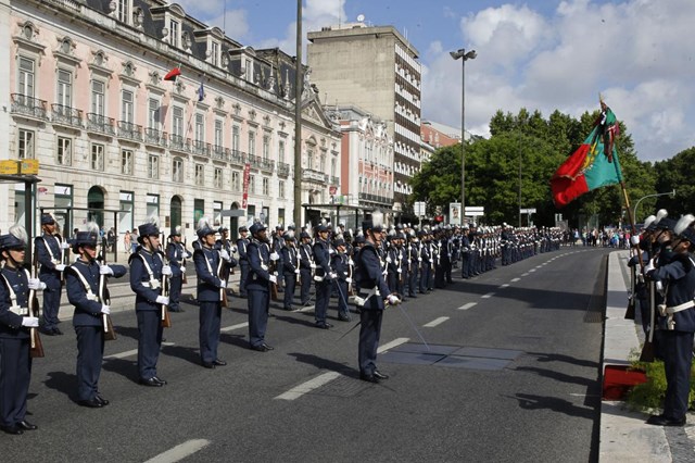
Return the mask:
[[[418, 51], [392, 26], [349, 23], [308, 33], [307, 64], [323, 101], [355, 105], [386, 123], [393, 140], [396, 215], [420, 168], [421, 65]], [[358, 195], [358, 191], [350, 191]]]

